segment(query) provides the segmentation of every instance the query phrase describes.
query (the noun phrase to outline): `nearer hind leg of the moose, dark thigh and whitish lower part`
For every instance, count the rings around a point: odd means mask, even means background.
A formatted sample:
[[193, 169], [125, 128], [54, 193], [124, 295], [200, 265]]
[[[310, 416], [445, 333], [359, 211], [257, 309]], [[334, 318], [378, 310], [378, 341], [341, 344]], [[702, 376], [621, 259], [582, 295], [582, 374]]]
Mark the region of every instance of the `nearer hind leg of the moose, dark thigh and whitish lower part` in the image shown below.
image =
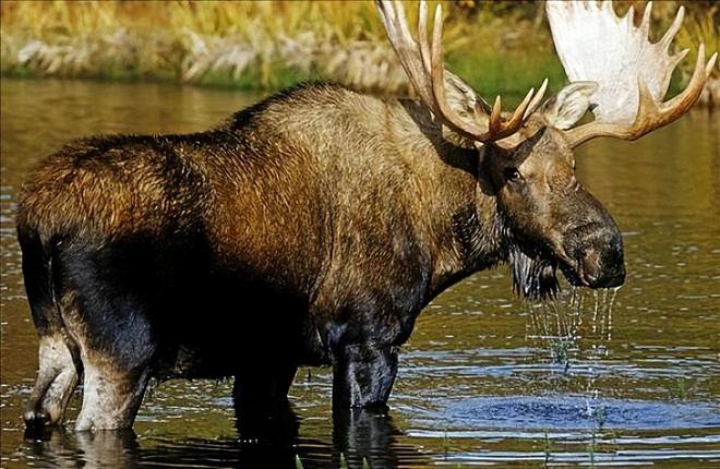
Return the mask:
[[134, 422], [159, 347], [153, 318], [166, 311], [148, 256], [137, 244], [68, 243], [53, 263], [62, 318], [83, 366], [75, 430], [129, 429]]

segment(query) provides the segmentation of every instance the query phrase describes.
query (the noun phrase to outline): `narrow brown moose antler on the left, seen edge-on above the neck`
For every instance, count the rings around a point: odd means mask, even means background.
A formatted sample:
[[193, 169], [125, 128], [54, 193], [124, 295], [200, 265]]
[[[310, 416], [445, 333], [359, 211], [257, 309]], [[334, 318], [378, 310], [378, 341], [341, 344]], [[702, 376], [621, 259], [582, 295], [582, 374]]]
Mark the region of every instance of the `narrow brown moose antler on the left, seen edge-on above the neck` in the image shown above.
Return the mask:
[[[432, 47], [428, 44], [428, 4], [420, 1], [418, 35], [415, 40], [408, 27], [405, 10], [399, 1], [377, 0], [377, 10], [385, 25], [395, 52], [405, 69], [412, 87], [422, 103], [445, 125], [458, 134], [478, 142], [494, 142], [516, 133], [527, 117], [532, 113], [542, 99], [547, 81], [535, 93], [530, 89], [523, 103], [515, 109], [509, 120], [503, 121], [500, 96], [492, 110], [478, 99], [473, 109], [473, 120], [463, 119], [448, 105], [445, 96], [445, 68], [443, 64], [443, 12], [439, 4], [432, 31]], [[490, 113], [488, 113], [490, 111]]]

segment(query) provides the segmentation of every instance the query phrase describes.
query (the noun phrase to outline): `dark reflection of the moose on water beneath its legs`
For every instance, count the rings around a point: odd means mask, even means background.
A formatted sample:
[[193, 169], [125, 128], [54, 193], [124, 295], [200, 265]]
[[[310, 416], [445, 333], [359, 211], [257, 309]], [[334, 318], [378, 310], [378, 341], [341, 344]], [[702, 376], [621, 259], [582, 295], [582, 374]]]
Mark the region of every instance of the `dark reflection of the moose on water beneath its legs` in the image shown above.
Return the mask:
[[[75, 433], [58, 429], [26, 434], [17, 453], [39, 467], [341, 467], [395, 468], [428, 464], [417, 448], [396, 441], [392, 417], [368, 411], [333, 414], [332, 444], [300, 438], [299, 419], [287, 409], [285, 419], [240, 423], [237, 437], [166, 440], [142, 437], [133, 431]], [[364, 465], [364, 466], [363, 466]]]

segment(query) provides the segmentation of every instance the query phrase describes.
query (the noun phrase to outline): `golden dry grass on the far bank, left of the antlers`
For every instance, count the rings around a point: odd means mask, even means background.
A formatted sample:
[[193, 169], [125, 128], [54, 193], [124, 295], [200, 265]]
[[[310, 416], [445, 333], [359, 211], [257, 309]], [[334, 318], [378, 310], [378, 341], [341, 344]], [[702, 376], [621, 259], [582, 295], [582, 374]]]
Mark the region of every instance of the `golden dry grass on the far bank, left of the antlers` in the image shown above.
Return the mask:
[[377, 47], [373, 5], [337, 5], [3, 2], [2, 71], [269, 88], [295, 73], [373, 87], [392, 59]]

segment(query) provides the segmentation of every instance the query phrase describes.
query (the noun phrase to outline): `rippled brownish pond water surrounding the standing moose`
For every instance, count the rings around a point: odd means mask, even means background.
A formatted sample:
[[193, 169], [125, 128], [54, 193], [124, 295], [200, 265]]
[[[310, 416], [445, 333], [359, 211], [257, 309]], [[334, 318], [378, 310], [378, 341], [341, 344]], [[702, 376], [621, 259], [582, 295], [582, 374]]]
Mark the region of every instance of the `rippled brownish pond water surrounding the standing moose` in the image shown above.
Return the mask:
[[[505, 268], [439, 297], [400, 357], [389, 419], [333, 416], [327, 369], [301, 369], [297, 425], [240, 441], [231, 384], [155, 386], [134, 433], [24, 440], [37, 369], [14, 234], [17, 189], [62, 143], [93, 133], [188, 132], [256, 99], [157, 84], [2, 82], [2, 467], [420, 467], [720, 465], [720, 125], [694, 111], [636, 143], [598, 141], [578, 177], [625, 242], [617, 292], [512, 293]], [[80, 400], [73, 398], [71, 420]]]

